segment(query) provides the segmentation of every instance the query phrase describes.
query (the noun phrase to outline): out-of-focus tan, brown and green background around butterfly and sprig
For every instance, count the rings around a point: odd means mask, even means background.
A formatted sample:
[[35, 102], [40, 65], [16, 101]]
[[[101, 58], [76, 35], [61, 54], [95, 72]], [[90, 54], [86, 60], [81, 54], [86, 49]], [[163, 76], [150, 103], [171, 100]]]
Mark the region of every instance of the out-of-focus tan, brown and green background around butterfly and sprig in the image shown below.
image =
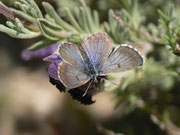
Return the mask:
[[[2, 1], [12, 6], [12, 0]], [[86, 3], [107, 21], [108, 9], [123, 8], [121, 1]], [[42, 0], [36, 2], [42, 8]], [[77, 0], [49, 2], [57, 10], [77, 4]], [[180, 1], [138, 3], [146, 26], [158, 23], [157, 9], [179, 5]], [[5, 21], [0, 15], [0, 23]], [[146, 64], [138, 71], [118, 74], [119, 88], [113, 91], [112, 84], [108, 85], [109, 91], [93, 97], [95, 104], [85, 106], [49, 83], [49, 63], [21, 58], [22, 50], [38, 40], [19, 40], [0, 33], [0, 135], [180, 135], [180, 78], [171, 74], [180, 72], [180, 59], [168, 48], [143, 43], [140, 52]]]

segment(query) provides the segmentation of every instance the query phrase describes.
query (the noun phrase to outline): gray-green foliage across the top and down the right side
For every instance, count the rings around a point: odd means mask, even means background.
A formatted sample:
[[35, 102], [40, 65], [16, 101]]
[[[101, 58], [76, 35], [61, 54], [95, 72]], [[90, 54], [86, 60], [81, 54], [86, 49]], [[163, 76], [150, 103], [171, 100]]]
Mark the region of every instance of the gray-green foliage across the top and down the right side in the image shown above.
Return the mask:
[[[179, 94], [180, 83], [179, 6], [172, 6], [170, 0], [142, 0], [141, 3], [138, 0], [99, 0], [97, 10], [92, 10], [83, 0], [57, 0], [56, 3], [58, 12], [50, 3], [42, 2], [46, 12], [42, 15], [34, 0], [17, 0], [16, 9], [7, 8], [10, 14], [4, 15], [8, 21], [6, 26], [0, 25], [0, 31], [15, 38], [43, 36], [43, 40], [30, 46], [31, 51], [61, 41], [80, 44], [83, 38], [96, 32], [106, 32], [115, 45], [138, 44], [148, 58], [146, 64], [127, 76], [110, 75], [109, 79], [118, 86], [106, 86], [106, 83], [105, 90], [114, 91], [118, 105], [127, 103], [128, 113], [141, 108], [165, 125], [171, 122], [169, 106], [176, 103], [169, 96], [176, 97], [174, 91]], [[116, 9], [109, 9], [111, 7]], [[100, 19], [100, 10], [107, 12], [106, 21]]]

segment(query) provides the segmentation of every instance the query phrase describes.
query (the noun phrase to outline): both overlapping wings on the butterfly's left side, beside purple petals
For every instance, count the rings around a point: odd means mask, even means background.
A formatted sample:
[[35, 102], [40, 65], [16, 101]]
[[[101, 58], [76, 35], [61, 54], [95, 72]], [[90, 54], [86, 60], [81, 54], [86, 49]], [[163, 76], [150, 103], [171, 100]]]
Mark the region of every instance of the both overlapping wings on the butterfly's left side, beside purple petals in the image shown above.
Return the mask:
[[69, 42], [62, 43], [59, 47], [63, 63], [59, 66], [60, 81], [68, 88], [76, 88], [90, 79], [85, 73], [85, 64], [77, 45]]

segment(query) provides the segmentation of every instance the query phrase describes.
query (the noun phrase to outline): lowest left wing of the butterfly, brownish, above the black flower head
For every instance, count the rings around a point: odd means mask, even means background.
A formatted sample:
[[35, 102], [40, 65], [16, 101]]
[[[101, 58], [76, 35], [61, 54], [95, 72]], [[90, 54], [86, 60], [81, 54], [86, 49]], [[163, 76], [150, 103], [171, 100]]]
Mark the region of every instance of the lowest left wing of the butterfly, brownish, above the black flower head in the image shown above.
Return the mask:
[[58, 72], [59, 79], [68, 89], [81, 86], [90, 80], [90, 77], [80, 68], [74, 67], [69, 63], [63, 62]]

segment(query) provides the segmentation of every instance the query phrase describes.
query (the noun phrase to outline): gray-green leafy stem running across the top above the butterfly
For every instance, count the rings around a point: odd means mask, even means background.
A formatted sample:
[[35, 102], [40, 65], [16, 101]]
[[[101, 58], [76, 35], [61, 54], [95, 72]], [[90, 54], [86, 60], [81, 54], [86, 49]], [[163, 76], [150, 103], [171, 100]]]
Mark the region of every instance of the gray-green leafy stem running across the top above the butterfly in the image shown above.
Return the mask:
[[[96, 32], [107, 32], [115, 43], [148, 41], [157, 42], [158, 44], [168, 44], [171, 46], [174, 54], [179, 55], [179, 25], [177, 21], [173, 27], [170, 23], [173, 19], [173, 8], [168, 13], [163, 13], [159, 10], [160, 25], [163, 30], [153, 24], [144, 25], [145, 16], [142, 8], [137, 0], [123, 1], [119, 3], [123, 8], [121, 10], [112, 10], [108, 12], [108, 21], [100, 21], [99, 14], [96, 10], [91, 10], [86, 6], [83, 0], [79, 1], [63, 1], [59, 3], [59, 15], [55, 9], [47, 2], [42, 5], [46, 11], [43, 16], [41, 10], [34, 0], [19, 0], [14, 2], [14, 8], [9, 8], [9, 11], [19, 19], [10, 18], [7, 21], [7, 26], [0, 25], [0, 31], [9, 34], [16, 38], [35, 38], [44, 36], [48, 43], [71, 41], [80, 43], [88, 34]], [[66, 3], [71, 3], [71, 6], [63, 6]], [[68, 4], [69, 5], [69, 4]], [[1, 3], [2, 6], [2, 3]], [[6, 15], [5, 15], [6, 16]], [[8, 17], [8, 16], [7, 16]], [[26, 20], [26, 22], [24, 21]], [[156, 31], [156, 35], [153, 35]], [[39, 42], [44, 43], [44, 42]], [[38, 43], [38, 49], [44, 47]], [[48, 44], [46, 43], [46, 45]], [[36, 46], [31, 47], [32, 50], [37, 50]]]

